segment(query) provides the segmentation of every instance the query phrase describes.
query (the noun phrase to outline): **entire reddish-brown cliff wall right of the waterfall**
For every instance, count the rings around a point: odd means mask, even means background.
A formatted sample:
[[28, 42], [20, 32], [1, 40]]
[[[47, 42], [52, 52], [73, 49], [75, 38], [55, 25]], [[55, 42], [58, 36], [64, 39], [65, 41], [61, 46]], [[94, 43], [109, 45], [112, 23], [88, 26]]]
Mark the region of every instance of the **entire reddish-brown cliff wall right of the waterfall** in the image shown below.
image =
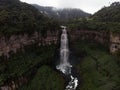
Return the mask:
[[120, 33], [95, 30], [76, 30], [69, 32], [71, 41], [85, 40], [88, 42], [97, 42], [106, 45], [110, 53], [119, 53], [120, 51]]

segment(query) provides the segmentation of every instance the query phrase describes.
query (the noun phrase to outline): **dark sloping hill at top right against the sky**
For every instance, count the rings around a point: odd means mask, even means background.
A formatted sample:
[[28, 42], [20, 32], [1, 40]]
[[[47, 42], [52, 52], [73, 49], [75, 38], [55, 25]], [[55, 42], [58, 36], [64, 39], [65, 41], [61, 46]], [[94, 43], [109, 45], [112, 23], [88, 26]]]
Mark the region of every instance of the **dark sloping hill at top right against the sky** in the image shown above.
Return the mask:
[[104, 22], [120, 22], [120, 2], [114, 2], [93, 15], [93, 18]]

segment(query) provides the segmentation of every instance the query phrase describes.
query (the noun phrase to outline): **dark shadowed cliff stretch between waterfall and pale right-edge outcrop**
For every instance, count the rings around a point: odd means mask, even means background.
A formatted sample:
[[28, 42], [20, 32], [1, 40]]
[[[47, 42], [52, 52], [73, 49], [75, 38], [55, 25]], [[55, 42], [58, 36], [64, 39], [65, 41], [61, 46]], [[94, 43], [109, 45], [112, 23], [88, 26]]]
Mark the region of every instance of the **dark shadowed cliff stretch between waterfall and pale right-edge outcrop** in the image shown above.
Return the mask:
[[88, 40], [90, 42], [98, 42], [104, 44], [106, 42], [106, 32], [98, 32], [92, 30], [76, 30], [71, 34], [71, 40]]

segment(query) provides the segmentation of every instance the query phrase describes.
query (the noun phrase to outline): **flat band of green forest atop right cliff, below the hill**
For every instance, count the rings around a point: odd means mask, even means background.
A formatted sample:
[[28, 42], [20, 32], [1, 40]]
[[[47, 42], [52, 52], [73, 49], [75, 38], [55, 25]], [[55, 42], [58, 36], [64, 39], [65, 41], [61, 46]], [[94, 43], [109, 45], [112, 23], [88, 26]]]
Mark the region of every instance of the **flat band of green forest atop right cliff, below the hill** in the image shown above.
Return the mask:
[[94, 31], [112, 31], [114, 33], [120, 33], [119, 22], [101, 22], [92, 18], [82, 18], [79, 20], [72, 20], [67, 23], [69, 30], [94, 30]]

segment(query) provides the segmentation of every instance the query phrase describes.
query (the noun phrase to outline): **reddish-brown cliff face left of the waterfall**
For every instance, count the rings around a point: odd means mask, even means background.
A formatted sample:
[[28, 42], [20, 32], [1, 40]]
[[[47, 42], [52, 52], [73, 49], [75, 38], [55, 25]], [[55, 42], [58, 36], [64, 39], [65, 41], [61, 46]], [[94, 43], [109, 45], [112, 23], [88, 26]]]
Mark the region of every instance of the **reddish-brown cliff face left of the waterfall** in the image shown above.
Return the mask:
[[4, 36], [0, 37], [0, 56], [9, 57], [9, 53], [16, 53], [17, 50], [23, 49], [26, 45], [31, 45], [38, 43], [39, 45], [57, 44], [58, 42], [58, 32], [47, 32], [47, 37], [44, 38], [40, 33], [34, 32], [32, 35], [12, 35], [10, 38]]

